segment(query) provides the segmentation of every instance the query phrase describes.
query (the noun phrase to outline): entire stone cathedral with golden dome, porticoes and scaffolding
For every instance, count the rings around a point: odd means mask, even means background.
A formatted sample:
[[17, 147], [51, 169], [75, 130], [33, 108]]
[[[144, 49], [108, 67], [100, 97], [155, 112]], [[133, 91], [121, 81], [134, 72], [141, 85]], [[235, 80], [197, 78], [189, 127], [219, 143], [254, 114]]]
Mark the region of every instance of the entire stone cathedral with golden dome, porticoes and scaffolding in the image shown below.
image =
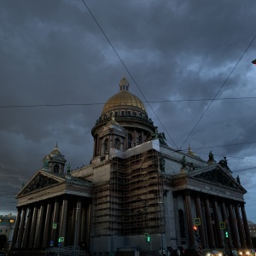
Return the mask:
[[89, 166], [71, 172], [56, 145], [20, 189], [12, 250], [252, 248], [247, 191], [227, 160], [169, 147], [129, 87], [121, 79], [96, 120]]

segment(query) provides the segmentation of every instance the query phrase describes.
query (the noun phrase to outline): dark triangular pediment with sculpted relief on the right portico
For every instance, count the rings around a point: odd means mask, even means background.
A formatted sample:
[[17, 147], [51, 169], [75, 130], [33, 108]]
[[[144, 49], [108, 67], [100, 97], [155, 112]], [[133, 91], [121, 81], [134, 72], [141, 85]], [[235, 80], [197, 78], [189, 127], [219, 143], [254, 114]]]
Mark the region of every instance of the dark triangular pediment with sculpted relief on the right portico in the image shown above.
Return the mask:
[[219, 165], [210, 166], [202, 169], [201, 171], [195, 171], [190, 174], [194, 178], [198, 178], [201, 181], [207, 183], [214, 183], [215, 185], [220, 185], [226, 187], [227, 189], [239, 189], [241, 191], [246, 191], [238, 181], [232, 177], [230, 172], [224, 170], [223, 167]]

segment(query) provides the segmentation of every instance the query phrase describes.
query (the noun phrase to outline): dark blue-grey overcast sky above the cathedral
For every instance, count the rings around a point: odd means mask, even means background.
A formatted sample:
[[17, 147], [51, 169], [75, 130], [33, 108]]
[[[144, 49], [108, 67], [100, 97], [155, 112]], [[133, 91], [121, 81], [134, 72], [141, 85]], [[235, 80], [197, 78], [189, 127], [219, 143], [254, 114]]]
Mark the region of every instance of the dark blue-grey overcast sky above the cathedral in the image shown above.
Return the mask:
[[[0, 3], [0, 214], [56, 142], [72, 169], [89, 165], [91, 128], [125, 75], [169, 146], [227, 157], [256, 223], [256, 2], [84, 3]], [[49, 106], [61, 104], [79, 105]]]

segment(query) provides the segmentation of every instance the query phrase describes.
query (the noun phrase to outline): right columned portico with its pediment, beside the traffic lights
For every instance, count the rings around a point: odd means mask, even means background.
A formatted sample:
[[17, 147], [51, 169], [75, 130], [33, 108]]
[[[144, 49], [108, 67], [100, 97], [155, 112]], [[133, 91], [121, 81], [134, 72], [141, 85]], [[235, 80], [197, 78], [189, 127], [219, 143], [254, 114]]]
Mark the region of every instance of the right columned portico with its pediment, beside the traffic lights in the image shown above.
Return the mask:
[[246, 190], [230, 171], [219, 164], [187, 170], [173, 175], [168, 186], [177, 206], [177, 246], [198, 246], [196, 225], [203, 248], [253, 247], [243, 200]]

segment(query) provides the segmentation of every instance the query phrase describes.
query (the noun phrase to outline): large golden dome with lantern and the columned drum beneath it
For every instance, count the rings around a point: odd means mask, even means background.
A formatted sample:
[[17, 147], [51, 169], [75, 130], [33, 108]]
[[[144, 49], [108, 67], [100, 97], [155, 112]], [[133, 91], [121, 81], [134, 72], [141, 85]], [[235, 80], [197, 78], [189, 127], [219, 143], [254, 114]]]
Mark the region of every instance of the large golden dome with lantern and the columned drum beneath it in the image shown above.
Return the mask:
[[[91, 130], [94, 137], [94, 160], [98, 157], [101, 159], [113, 148], [114, 139], [122, 141], [123, 146], [119, 150], [125, 151], [146, 142], [155, 131], [143, 102], [129, 92], [129, 85], [127, 79], [121, 79], [119, 93], [108, 99]], [[111, 129], [113, 126], [114, 130]], [[124, 136], [119, 131], [124, 131]]]

